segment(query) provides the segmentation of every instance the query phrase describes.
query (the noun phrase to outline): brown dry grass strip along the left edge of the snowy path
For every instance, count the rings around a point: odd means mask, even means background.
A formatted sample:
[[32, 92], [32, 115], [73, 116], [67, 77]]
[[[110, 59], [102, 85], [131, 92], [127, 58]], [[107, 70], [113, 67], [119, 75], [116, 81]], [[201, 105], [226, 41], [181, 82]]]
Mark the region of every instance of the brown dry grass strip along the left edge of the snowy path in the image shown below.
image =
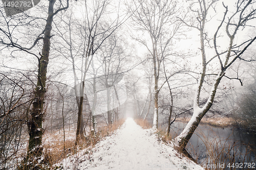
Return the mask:
[[[54, 164], [67, 158], [70, 155], [77, 154], [79, 150], [83, 150], [89, 147], [94, 147], [99, 141], [106, 136], [110, 136], [124, 123], [124, 119], [118, 120], [113, 125], [98, 127], [98, 132], [94, 135], [88, 135], [81, 139], [78, 146], [74, 147], [75, 144], [75, 132], [65, 131], [65, 143], [63, 140], [63, 131], [48, 132], [43, 137], [44, 145], [44, 162], [46, 165], [40, 166], [39, 169], [54, 169]], [[65, 144], [65, 150], [64, 150]], [[25, 156], [26, 154], [24, 154]], [[43, 167], [44, 166], [44, 167]], [[19, 170], [25, 170], [24, 165], [17, 167]]]

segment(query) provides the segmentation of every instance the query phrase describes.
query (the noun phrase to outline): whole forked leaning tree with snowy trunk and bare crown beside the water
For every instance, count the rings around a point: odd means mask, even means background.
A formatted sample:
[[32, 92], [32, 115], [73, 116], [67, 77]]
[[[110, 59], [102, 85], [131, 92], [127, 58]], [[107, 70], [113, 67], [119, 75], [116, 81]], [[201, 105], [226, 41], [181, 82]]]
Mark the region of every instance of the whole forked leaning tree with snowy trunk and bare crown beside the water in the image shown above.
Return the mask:
[[[190, 4], [190, 11], [195, 14], [195, 19], [192, 22], [191, 20], [188, 21], [181, 19], [185, 25], [194, 28], [199, 32], [199, 49], [201, 51], [202, 59], [201, 73], [196, 86], [194, 98], [193, 116], [189, 120], [183, 132], [178, 137], [176, 137], [178, 142], [177, 144], [185, 153], [185, 147], [190, 137], [197, 129], [200, 120], [207, 113], [207, 111], [212, 106], [212, 103], [214, 102], [216, 91], [221, 80], [224, 77], [228, 79], [237, 79], [241, 82], [242, 85], [242, 81], [238, 77], [230, 78], [225, 75], [225, 72], [235, 61], [244, 60], [243, 53], [256, 39], [255, 35], [247, 36], [246, 40], [242, 39], [241, 41], [239, 39], [241, 38], [239, 37], [239, 33], [241, 33], [246, 27], [249, 27], [251, 23], [253, 23], [252, 21], [255, 22], [255, 1], [236, 1], [234, 3], [234, 8], [233, 6], [225, 5], [225, 3], [218, 4], [218, 2], [218, 0], [199, 0], [197, 2], [193, 1]], [[212, 29], [208, 29], [207, 24], [210, 24], [209, 21], [215, 19], [215, 17], [212, 17], [209, 12], [216, 11], [217, 7], [218, 10], [220, 10], [220, 8], [224, 9], [224, 13], [221, 14], [221, 18], [218, 18], [218, 27], [216, 27], [214, 34], [212, 34], [213, 36], [210, 37], [211, 34], [207, 32], [207, 30]], [[212, 25], [210, 27], [212, 27]], [[239, 42], [239, 40], [241, 43], [237, 44], [236, 42]], [[221, 43], [223, 41], [226, 43]], [[208, 56], [207, 54], [210, 55], [212, 53], [206, 53], [207, 47], [212, 47], [215, 54]], [[218, 69], [208, 70], [207, 72], [207, 68], [211, 63], [217, 64]], [[203, 104], [202, 107], [200, 107], [200, 95], [202, 94], [206, 78], [212, 80], [212, 85], [208, 93], [207, 101]]]

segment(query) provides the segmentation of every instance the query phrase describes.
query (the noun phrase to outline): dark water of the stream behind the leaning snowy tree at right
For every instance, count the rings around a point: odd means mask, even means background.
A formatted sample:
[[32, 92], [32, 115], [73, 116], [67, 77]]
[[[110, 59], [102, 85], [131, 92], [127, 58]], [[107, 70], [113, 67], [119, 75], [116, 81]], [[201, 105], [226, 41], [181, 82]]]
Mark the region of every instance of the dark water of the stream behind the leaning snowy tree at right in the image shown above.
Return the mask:
[[[185, 126], [175, 122], [172, 135], [179, 135]], [[239, 129], [199, 125], [186, 149], [209, 169], [256, 169], [256, 135]]]

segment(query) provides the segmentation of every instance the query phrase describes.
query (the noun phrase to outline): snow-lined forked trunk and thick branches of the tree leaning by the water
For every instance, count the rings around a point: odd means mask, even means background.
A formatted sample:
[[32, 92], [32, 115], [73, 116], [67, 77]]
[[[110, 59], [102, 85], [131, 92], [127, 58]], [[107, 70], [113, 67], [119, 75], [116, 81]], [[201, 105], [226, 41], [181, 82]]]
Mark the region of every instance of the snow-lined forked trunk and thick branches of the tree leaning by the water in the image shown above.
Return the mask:
[[[198, 127], [201, 119], [203, 118], [203, 116], [207, 113], [207, 111], [210, 109], [212, 103], [214, 102], [214, 98], [216, 95], [216, 91], [218, 88], [218, 85], [221, 81], [221, 79], [224, 77], [225, 75], [225, 71], [226, 69], [233, 64], [234, 61], [236, 61], [238, 58], [242, 59], [241, 56], [242, 54], [246, 51], [247, 47], [249, 45], [251, 45], [251, 43], [256, 39], [256, 37], [254, 38], [250, 38], [248, 41], [244, 41], [242, 42], [240, 45], [237, 44], [233, 44], [234, 41], [234, 37], [237, 34], [237, 31], [239, 30], [240, 27], [245, 27], [247, 26], [245, 23], [250, 20], [250, 19], [254, 19], [254, 17], [252, 17], [252, 13], [254, 15], [256, 15], [256, 10], [252, 10], [250, 8], [250, 5], [252, 1], [241, 1], [237, 3], [237, 11], [232, 13], [231, 17], [226, 17], [226, 14], [228, 13], [228, 8], [227, 6], [224, 5], [224, 3], [222, 4], [223, 7], [225, 8], [225, 13], [223, 15], [222, 21], [219, 25], [219, 27], [217, 28], [213, 41], [214, 41], [214, 48], [215, 48], [215, 52], [216, 52], [216, 56], [212, 57], [209, 61], [206, 62], [206, 55], [205, 55], [205, 43], [204, 40], [209, 40], [209, 38], [207, 38], [207, 34], [204, 32], [205, 29], [205, 23], [206, 23], [206, 15], [207, 12], [209, 10], [210, 7], [215, 8], [215, 3], [217, 1], [212, 0], [209, 4], [206, 3], [205, 0], [199, 2], [199, 9], [198, 11], [198, 15], [199, 18], [198, 19], [198, 24], [197, 26], [189, 26], [185, 21], [183, 21], [187, 26], [189, 27], [193, 27], [196, 28], [200, 31], [200, 43], [201, 43], [201, 53], [202, 53], [202, 72], [201, 72], [201, 77], [199, 79], [199, 83], [197, 85], [197, 91], [195, 92], [195, 98], [194, 98], [194, 113], [193, 116], [191, 117], [191, 119], [189, 120], [187, 126], [185, 127], [185, 129], [183, 130], [183, 132], [176, 137], [176, 144], [178, 144], [181, 149], [184, 151], [184, 153], [186, 153], [185, 151], [185, 147], [186, 144], [188, 143], [188, 140], [190, 139], [190, 137], [193, 135], [193, 133], [195, 132], [196, 128]], [[250, 12], [248, 12], [248, 11]], [[247, 13], [248, 12], [248, 13]], [[234, 16], [236, 14], [239, 14], [239, 18], [237, 20], [233, 20]], [[227, 20], [227, 21], [225, 21]], [[237, 21], [237, 23], [236, 23]], [[227, 47], [227, 50], [219, 53], [218, 52], [218, 46], [217, 46], [217, 38], [219, 36], [220, 33], [219, 30], [222, 27], [223, 23], [226, 22], [226, 27], [225, 27], [225, 31], [226, 31], [226, 36], [229, 38], [229, 44]], [[233, 27], [236, 26], [236, 27]], [[232, 32], [232, 34], [231, 34]], [[243, 50], [239, 51], [239, 52], [233, 52], [233, 49], [239, 48], [241, 47], [242, 44], [247, 43], [247, 45], [243, 48]], [[225, 57], [223, 57], [224, 59], [222, 59], [221, 55], [225, 54]], [[217, 58], [218, 57], [218, 58]], [[212, 85], [212, 88], [210, 90], [210, 94], [208, 96], [208, 100], [207, 102], [204, 104], [204, 106], [202, 108], [199, 107], [199, 99], [200, 99], [200, 93], [201, 93], [201, 88], [203, 86], [204, 83], [204, 77], [206, 76], [206, 66], [207, 64], [209, 64], [209, 62], [212, 61], [212, 59], [217, 58], [219, 59], [219, 74], [217, 75], [217, 77], [214, 79], [214, 84]], [[223, 64], [224, 63], [224, 64]], [[215, 75], [215, 74], [210, 74], [210, 75]], [[227, 77], [227, 76], [225, 76]], [[228, 79], [237, 79], [240, 80], [238, 77], [237, 78], [229, 78]], [[241, 80], [240, 80], [241, 82]], [[242, 85], [242, 82], [241, 82]]]

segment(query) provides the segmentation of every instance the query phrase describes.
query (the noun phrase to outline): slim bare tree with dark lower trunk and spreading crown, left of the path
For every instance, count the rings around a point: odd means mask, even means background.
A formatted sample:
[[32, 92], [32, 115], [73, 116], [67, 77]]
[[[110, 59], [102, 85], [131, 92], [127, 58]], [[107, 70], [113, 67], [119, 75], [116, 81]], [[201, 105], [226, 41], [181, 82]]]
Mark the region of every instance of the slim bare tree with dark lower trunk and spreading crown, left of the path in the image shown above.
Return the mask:
[[[116, 31], [121, 25], [120, 18], [114, 21], [108, 18], [109, 0], [86, 1], [82, 3], [81, 11], [85, 16], [74, 17], [73, 13], [67, 16], [61, 16], [59, 19], [64, 21], [63, 29], [58, 29], [57, 34], [65, 42], [61, 44], [62, 48], [68, 52], [69, 56], [59, 50], [59, 53], [69, 57], [72, 62], [74, 74], [74, 89], [78, 103], [78, 118], [76, 130], [76, 142], [83, 138], [83, 102], [88, 99], [86, 96], [85, 82], [88, 71], [92, 66], [94, 55], [101, 48], [103, 42]], [[75, 23], [75, 25], [73, 24]], [[55, 23], [58, 27], [58, 22]], [[67, 27], [68, 26], [68, 27]], [[64, 29], [64, 28], [68, 28]], [[79, 60], [79, 64], [77, 61]], [[80, 77], [80, 79], [78, 78]], [[89, 111], [91, 112], [91, 111]]]

